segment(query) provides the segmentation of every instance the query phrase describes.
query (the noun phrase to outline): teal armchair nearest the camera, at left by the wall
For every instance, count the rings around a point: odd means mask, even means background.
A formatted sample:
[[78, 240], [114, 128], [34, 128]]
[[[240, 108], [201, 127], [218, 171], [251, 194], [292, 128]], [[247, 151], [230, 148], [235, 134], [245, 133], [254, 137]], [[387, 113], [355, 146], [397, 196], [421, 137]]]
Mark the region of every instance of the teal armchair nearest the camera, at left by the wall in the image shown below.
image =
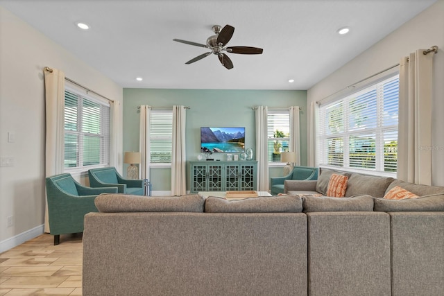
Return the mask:
[[54, 236], [54, 245], [60, 243], [60, 234], [83, 232], [83, 218], [98, 211], [94, 199], [101, 193], [117, 193], [117, 187], [89, 188], [68, 173], [46, 177], [49, 233]]

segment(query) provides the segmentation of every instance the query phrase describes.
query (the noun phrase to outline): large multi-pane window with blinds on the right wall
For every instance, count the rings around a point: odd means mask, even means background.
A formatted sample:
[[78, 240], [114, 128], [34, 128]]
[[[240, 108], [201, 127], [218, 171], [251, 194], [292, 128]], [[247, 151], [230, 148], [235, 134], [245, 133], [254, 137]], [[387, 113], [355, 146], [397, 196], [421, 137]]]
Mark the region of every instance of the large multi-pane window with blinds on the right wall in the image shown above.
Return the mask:
[[395, 173], [399, 76], [319, 108], [320, 164]]

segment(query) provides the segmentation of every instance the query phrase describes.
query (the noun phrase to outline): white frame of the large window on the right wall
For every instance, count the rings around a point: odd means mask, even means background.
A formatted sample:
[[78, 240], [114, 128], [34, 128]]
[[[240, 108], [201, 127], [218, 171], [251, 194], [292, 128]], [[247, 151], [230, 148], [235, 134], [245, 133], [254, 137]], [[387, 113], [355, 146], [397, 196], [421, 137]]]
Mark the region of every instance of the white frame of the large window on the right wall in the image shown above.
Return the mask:
[[[389, 122], [388, 119], [386, 119], [386, 105], [384, 105], [384, 85], [389, 85], [390, 83], [395, 82], [398, 80], [398, 89], [399, 89], [399, 73], [398, 71], [395, 73], [387, 74], [386, 76], [375, 79], [373, 81], [367, 81], [366, 85], [361, 87], [360, 89], [356, 89], [354, 92], [349, 92], [346, 95], [339, 96], [336, 99], [333, 99], [331, 101], [328, 101], [327, 103], [324, 103], [323, 105], [319, 106], [319, 114], [318, 114], [318, 128], [316, 131], [316, 138], [317, 138], [317, 148], [316, 152], [318, 155], [318, 165], [322, 168], [330, 168], [337, 171], [350, 171], [350, 172], [356, 172], [356, 173], [365, 173], [367, 175], [384, 175], [388, 177], [396, 177], [396, 169], [397, 164], [395, 164], [395, 171], [389, 171], [390, 168], [393, 168], [393, 166], [388, 166], [388, 159], [390, 158], [385, 153], [393, 153], [393, 146], [390, 146], [393, 141], [396, 141], [396, 149], [395, 153], [398, 152], [398, 121], [391, 124], [385, 124]], [[353, 113], [350, 112], [350, 101], [352, 101], [353, 98], [359, 98], [359, 96], [364, 96], [365, 94], [369, 94], [371, 92], [371, 89], [375, 88], [375, 96], [377, 98], [376, 101], [376, 116], [375, 116], [375, 126], [372, 128], [366, 128], [366, 127], [350, 127], [350, 122], [355, 120], [355, 118], [350, 119], [352, 117]], [[399, 94], [399, 92], [396, 92]], [[387, 100], [392, 99], [391, 96], [387, 96]], [[399, 101], [399, 96], [398, 96]], [[398, 110], [398, 101], [395, 101], [395, 114], [388, 114], [388, 117], [391, 117], [391, 121], [395, 117], [398, 116], [399, 110]], [[344, 102], [346, 104], [344, 104]], [[327, 134], [327, 108], [332, 108], [335, 105], [343, 104], [343, 114], [342, 114], [342, 130], [341, 128], [337, 132], [332, 132], [330, 134]], [[355, 102], [353, 102], [355, 103]], [[386, 101], [387, 103], [387, 101]], [[388, 108], [387, 108], [388, 110]], [[390, 110], [393, 112], [393, 110]], [[331, 117], [330, 117], [331, 119]], [[363, 125], [364, 126], [364, 125]], [[352, 163], [350, 165], [350, 159], [354, 159], [356, 162], [356, 159], [359, 159], [359, 157], [350, 158], [350, 139], [352, 136], [355, 136], [355, 139], [372, 139], [374, 135], [374, 147], [371, 148], [375, 149], [375, 167], [374, 168], [365, 168], [357, 166], [355, 163]], [[394, 136], [393, 136], [394, 135]], [[366, 137], [367, 136], [367, 137]], [[332, 155], [332, 153], [329, 154], [329, 148], [327, 145], [327, 141], [333, 140], [333, 139], [342, 139], [343, 143], [343, 163], [341, 166], [331, 164], [327, 161], [328, 155]], [[390, 142], [388, 142], [390, 141]], [[355, 141], [355, 144], [359, 143], [359, 141]], [[386, 146], [388, 145], [388, 146]], [[356, 145], [359, 146], [359, 145]], [[355, 146], [355, 147], [356, 147]], [[361, 146], [362, 148], [363, 146]], [[367, 146], [370, 148], [370, 146]], [[387, 148], [389, 148], [388, 151]], [[370, 150], [370, 149], [369, 149]], [[359, 151], [359, 150], [358, 150]], [[357, 150], [353, 150], [352, 153], [357, 153]], [[367, 152], [368, 153], [368, 152]], [[363, 160], [364, 161], [364, 160]], [[371, 162], [371, 161], [370, 161]]]

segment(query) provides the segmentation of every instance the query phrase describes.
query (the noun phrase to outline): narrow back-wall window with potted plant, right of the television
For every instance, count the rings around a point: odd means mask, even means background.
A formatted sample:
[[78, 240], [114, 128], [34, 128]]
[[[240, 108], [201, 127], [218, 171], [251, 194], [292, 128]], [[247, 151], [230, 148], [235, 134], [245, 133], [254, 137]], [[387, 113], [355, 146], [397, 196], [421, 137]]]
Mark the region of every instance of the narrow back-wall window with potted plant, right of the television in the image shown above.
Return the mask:
[[289, 150], [289, 110], [268, 110], [268, 162], [280, 162], [280, 153]]

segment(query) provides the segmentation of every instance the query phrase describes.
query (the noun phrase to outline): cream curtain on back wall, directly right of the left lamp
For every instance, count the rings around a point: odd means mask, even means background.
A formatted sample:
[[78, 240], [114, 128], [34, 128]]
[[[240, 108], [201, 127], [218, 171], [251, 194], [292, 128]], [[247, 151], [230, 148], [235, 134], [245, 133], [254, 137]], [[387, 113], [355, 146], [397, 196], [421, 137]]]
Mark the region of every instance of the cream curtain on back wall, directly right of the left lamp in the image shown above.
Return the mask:
[[150, 179], [150, 119], [151, 107], [140, 106], [140, 134], [139, 134], [139, 151], [140, 151], [140, 179]]

